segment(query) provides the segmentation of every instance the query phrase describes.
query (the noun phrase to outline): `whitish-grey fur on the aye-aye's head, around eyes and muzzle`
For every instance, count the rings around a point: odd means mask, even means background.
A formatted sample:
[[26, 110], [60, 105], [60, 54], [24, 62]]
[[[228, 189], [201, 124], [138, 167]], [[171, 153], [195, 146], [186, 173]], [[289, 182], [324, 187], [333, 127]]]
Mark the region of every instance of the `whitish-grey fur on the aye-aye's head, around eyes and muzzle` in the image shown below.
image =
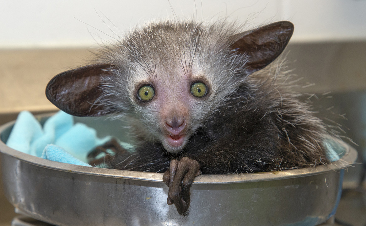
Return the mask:
[[[97, 56], [96, 63], [123, 66], [118, 68], [115, 77], [105, 79], [105, 96], [101, 97], [100, 102], [118, 117], [127, 114], [127, 117], [137, 119], [132, 124], [139, 127], [141, 123], [144, 128], [138, 129], [137, 135], [143, 140], [154, 141], [157, 139], [154, 131], [158, 125], [158, 106], [136, 103], [136, 84], [153, 80], [161, 81], [159, 85], [166, 85], [166, 88], [176, 88], [181, 85], [172, 83], [181, 82], [182, 75], [192, 81], [203, 77], [211, 84], [210, 90], [214, 93], [205, 101], [190, 101], [190, 109], [194, 109], [191, 114], [194, 116], [191, 117], [189, 133], [193, 133], [204, 126], [205, 119], [243, 82], [246, 56], [232, 55], [228, 48], [232, 41], [231, 35], [238, 32], [236, 29], [238, 27], [234, 24], [226, 23], [207, 27], [194, 22], [159, 22], [149, 24], [142, 30], [134, 30], [118, 44], [101, 50]], [[167, 89], [160, 95], [169, 95], [168, 92], [175, 91]]]

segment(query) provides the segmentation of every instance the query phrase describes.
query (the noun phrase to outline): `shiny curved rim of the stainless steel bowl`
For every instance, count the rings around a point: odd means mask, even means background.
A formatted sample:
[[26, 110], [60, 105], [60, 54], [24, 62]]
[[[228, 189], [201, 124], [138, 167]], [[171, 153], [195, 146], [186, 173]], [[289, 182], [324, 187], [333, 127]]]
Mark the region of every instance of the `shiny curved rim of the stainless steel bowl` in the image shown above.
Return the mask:
[[[37, 119], [51, 116], [52, 114], [36, 115]], [[13, 126], [16, 120], [5, 123], [0, 126], [0, 134], [8, 127]], [[268, 171], [262, 173], [241, 173], [241, 174], [204, 174], [195, 177], [194, 184], [232, 184], [243, 182], [259, 182], [272, 181], [280, 179], [289, 179], [295, 177], [307, 177], [316, 174], [327, 173], [329, 171], [339, 171], [351, 166], [357, 158], [356, 150], [344, 141], [335, 139], [341, 146], [344, 147], [346, 153], [336, 162], [331, 162], [327, 165], [319, 165], [316, 167], [296, 168], [282, 171]], [[100, 177], [112, 177], [122, 179], [133, 179], [141, 181], [161, 182], [163, 183], [163, 173], [150, 173], [139, 171], [115, 170], [108, 168], [98, 168], [89, 166], [80, 166], [70, 163], [55, 162], [47, 159], [42, 159], [36, 156], [29, 155], [8, 147], [0, 139], [0, 153], [11, 156], [22, 162], [33, 164], [42, 168], [51, 170], [64, 171], [68, 173], [77, 173], [85, 175], [94, 175]]]

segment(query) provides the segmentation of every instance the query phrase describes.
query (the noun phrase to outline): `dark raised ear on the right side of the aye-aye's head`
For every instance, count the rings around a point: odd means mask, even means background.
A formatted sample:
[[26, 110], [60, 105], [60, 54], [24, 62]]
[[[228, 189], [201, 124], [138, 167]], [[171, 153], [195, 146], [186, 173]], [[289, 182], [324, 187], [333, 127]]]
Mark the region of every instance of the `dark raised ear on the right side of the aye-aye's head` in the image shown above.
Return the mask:
[[231, 49], [248, 56], [247, 75], [258, 71], [275, 60], [285, 49], [294, 32], [294, 25], [279, 21], [254, 30], [236, 34]]

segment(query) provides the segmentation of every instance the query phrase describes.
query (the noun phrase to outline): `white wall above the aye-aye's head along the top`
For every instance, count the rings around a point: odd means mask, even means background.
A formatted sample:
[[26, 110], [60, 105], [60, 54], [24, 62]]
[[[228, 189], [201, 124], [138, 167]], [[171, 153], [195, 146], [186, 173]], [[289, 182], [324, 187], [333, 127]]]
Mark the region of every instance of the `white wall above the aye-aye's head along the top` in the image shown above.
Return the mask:
[[365, 0], [4, 0], [0, 48], [88, 47], [118, 30], [172, 18], [173, 10], [178, 18], [229, 16], [252, 26], [290, 20], [292, 42], [366, 39]]

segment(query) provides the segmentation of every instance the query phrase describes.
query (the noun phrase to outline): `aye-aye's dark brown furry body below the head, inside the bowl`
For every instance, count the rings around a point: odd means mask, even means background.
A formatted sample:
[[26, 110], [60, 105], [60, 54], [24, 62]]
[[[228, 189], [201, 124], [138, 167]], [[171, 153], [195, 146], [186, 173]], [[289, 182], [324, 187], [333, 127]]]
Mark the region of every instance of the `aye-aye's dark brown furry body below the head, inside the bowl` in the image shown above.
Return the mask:
[[133, 154], [116, 155], [108, 164], [122, 170], [164, 172], [172, 159], [189, 157], [199, 162], [203, 174], [317, 166], [329, 162], [321, 143], [325, 134], [323, 123], [307, 104], [277, 90], [242, 86], [206, 119], [182, 152], [169, 153], [159, 142], [140, 142]]

